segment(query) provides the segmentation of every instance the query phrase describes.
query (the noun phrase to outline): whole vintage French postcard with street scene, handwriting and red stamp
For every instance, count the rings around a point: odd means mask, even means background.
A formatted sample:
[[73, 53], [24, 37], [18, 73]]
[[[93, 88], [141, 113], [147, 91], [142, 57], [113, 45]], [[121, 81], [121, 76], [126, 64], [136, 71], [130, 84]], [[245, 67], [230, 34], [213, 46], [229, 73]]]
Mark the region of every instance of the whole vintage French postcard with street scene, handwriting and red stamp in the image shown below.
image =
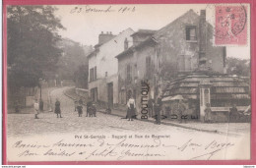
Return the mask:
[[250, 3], [4, 12], [7, 163], [252, 158]]

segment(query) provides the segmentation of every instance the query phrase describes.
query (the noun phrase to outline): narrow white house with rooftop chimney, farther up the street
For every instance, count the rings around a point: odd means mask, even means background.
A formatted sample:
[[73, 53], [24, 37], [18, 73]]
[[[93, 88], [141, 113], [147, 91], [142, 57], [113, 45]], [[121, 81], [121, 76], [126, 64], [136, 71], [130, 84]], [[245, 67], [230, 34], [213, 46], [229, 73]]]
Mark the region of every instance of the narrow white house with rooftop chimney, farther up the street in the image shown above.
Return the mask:
[[111, 32], [98, 35], [98, 44], [88, 56], [89, 91], [93, 101], [102, 105], [113, 106], [118, 102], [118, 62], [116, 55], [132, 45], [131, 34], [134, 30], [127, 28], [117, 35]]

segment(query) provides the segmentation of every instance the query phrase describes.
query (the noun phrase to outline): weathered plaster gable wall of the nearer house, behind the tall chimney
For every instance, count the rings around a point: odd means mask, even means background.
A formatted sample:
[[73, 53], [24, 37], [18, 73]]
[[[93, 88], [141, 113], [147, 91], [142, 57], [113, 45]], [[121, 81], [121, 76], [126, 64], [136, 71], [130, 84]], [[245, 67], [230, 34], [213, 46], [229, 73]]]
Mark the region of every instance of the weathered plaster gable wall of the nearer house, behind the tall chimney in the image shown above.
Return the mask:
[[[200, 39], [199, 21], [200, 16], [190, 10], [154, 35], [159, 41], [160, 65], [177, 66], [179, 72], [194, 71], [198, 68], [199, 41], [203, 40]], [[196, 27], [196, 40], [186, 40], [185, 29], [191, 26]], [[224, 47], [213, 46], [213, 27], [207, 24], [206, 28], [207, 66], [224, 73]]]

